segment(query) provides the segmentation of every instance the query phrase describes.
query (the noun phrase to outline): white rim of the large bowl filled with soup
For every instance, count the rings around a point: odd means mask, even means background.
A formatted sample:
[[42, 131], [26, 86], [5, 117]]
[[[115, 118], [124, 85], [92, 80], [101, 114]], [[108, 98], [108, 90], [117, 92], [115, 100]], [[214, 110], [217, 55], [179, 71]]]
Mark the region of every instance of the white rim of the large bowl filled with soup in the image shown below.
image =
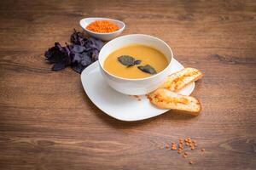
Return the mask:
[[[102, 65], [102, 63], [101, 63], [101, 61], [100, 61], [100, 56], [101, 56], [101, 52], [102, 52], [102, 49], [101, 49], [100, 54], [99, 54], [99, 59], [98, 59], [98, 60], [99, 60], [99, 65], [100, 65], [102, 71], [108, 73], [108, 75], [111, 76], [111, 77], [114, 77], [114, 78], [117, 78], [117, 79], [120, 79], [120, 80], [132, 81], [132, 82], [133, 82], [133, 81], [143, 81], [143, 80], [148, 80], [148, 79], [151, 79], [151, 78], [154, 78], [154, 77], [158, 77], [160, 74], [162, 74], [164, 71], [166, 71], [166, 70], [171, 66], [172, 59], [173, 59], [172, 48], [170, 48], [170, 46], [169, 46], [166, 42], [164, 42], [163, 40], [161, 40], [161, 39], [158, 38], [158, 37], [154, 37], [154, 36], [150, 36], [150, 35], [146, 35], [146, 34], [128, 34], [128, 35], [125, 35], [125, 36], [121, 36], [121, 37], [116, 37], [116, 38], [114, 38], [113, 40], [107, 42], [102, 48], [106, 47], [108, 43], [110, 43], [110, 42], [112, 42], [112, 41], [114, 41], [114, 40], [116, 40], [116, 39], [123, 38], [123, 37], [131, 37], [131, 36], [132, 36], [132, 37], [133, 37], [133, 36], [142, 36], [142, 37], [154, 38], [154, 39], [156, 39], [157, 41], [160, 41], [160, 42], [162, 42], [164, 45], [166, 45], [166, 48], [168, 48], [168, 49], [170, 50], [171, 54], [172, 54], [171, 59], [170, 59], [170, 62], [168, 63], [168, 65], [166, 66], [166, 68], [165, 68], [164, 70], [158, 72], [157, 74], [153, 75], [153, 76], [145, 77], [145, 78], [123, 78], [123, 77], [117, 77], [117, 76], [111, 74], [110, 72], [108, 72], [108, 71], [106, 71], [106, 70], [104, 69], [104, 67], [103, 67], [103, 65]], [[143, 44], [143, 43], [137, 43], [137, 44], [145, 45], [145, 44]], [[150, 47], [150, 46], [149, 46], [149, 47]], [[159, 50], [159, 49], [158, 49], [158, 50]]]

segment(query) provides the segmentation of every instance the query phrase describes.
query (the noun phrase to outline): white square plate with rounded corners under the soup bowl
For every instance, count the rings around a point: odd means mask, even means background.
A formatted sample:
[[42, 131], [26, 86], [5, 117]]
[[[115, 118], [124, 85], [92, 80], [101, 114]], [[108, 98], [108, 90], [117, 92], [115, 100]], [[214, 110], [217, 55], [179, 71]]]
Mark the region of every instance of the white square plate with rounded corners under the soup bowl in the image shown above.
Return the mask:
[[[176, 59], [172, 59], [170, 74], [182, 70], [184, 67]], [[110, 88], [102, 77], [99, 63], [88, 66], [81, 74], [81, 81], [85, 93], [90, 100], [103, 112], [121, 121], [139, 121], [159, 116], [166, 111], [151, 105], [146, 96], [142, 95], [140, 101], [133, 96], [120, 94]], [[195, 88], [195, 82], [183, 88], [179, 94], [189, 95]]]

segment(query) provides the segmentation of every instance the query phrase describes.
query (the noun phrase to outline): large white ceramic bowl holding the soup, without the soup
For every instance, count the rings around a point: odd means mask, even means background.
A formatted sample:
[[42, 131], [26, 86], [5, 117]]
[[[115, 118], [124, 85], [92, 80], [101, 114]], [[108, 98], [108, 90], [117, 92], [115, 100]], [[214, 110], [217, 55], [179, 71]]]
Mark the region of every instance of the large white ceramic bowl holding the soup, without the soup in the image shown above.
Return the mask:
[[[103, 68], [104, 61], [108, 55], [116, 49], [133, 43], [147, 45], [160, 50], [160, 52], [166, 55], [169, 65], [167, 65], [166, 69], [151, 77], [140, 79], [121, 78], [108, 73], [108, 71]], [[117, 37], [106, 43], [99, 54], [99, 63], [102, 76], [106, 79], [110, 87], [122, 94], [143, 95], [154, 91], [160, 86], [161, 83], [165, 81], [165, 78], [170, 74], [171, 71], [172, 57], [172, 49], [166, 44], [166, 42], [160, 40], [159, 38], [143, 34], [131, 34]]]

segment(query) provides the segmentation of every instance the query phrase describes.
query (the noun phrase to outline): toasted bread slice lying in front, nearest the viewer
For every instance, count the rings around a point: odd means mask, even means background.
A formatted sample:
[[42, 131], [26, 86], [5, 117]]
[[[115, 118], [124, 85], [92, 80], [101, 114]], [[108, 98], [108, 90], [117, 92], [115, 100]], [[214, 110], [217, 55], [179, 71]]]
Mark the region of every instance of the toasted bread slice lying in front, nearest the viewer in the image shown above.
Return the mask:
[[201, 104], [194, 97], [177, 94], [166, 88], [159, 88], [148, 94], [148, 99], [160, 109], [186, 111], [194, 116], [201, 111]]

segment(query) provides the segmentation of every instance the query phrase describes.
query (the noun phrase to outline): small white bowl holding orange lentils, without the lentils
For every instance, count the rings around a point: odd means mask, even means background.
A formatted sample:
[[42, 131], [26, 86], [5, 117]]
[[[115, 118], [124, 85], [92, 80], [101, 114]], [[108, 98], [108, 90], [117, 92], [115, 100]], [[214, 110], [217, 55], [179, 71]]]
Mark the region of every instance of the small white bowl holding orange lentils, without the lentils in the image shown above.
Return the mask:
[[[117, 26], [119, 26], [118, 31], [113, 31], [109, 33], [97, 33], [94, 31], [88, 30], [86, 27], [91, 23], [96, 20], [108, 20], [110, 22], [113, 22]], [[96, 37], [98, 39], [101, 39], [103, 41], [109, 41], [112, 40], [114, 37], [117, 37], [122, 31], [125, 29], [125, 23], [120, 21], [120, 20], [113, 20], [113, 19], [108, 19], [108, 18], [84, 18], [80, 20], [80, 26], [91, 36], [91, 37]]]

